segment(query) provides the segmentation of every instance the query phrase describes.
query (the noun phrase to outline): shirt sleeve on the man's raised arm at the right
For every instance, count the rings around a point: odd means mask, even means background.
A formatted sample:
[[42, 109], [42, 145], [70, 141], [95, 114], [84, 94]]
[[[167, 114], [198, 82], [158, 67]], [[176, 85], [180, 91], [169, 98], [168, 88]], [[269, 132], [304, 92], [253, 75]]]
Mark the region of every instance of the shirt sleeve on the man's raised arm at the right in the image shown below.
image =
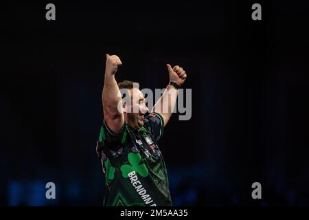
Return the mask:
[[162, 115], [152, 112], [144, 119], [144, 124], [149, 127], [152, 136], [158, 141], [163, 135], [164, 121]]

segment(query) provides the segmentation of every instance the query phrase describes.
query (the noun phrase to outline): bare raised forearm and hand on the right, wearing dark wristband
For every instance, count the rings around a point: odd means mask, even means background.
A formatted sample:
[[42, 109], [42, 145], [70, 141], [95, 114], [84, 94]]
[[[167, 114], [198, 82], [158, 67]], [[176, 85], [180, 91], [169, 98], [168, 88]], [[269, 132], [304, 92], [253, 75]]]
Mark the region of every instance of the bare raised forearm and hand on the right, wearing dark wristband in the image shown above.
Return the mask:
[[[183, 83], [185, 83], [185, 79], [187, 78], [187, 74], [182, 67], [178, 65], [173, 68], [167, 64], [168, 73], [170, 75], [170, 82], [176, 83], [176, 87], [181, 87]], [[157, 112], [162, 115], [164, 126], [168, 124], [168, 120], [170, 120], [170, 116], [174, 111], [174, 107], [176, 105], [176, 100], [178, 96], [178, 88], [174, 85], [168, 85], [162, 94], [161, 98], [157, 101], [155, 106], [152, 108], [151, 112]]]

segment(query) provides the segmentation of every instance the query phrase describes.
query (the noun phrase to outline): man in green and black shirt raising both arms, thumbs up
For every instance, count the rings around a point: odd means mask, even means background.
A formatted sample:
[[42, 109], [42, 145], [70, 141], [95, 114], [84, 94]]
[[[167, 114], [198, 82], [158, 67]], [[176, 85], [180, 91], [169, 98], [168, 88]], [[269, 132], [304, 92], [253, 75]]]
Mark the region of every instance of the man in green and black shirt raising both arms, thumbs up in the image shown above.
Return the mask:
[[[165, 162], [157, 142], [187, 75], [178, 65], [172, 68], [168, 64], [170, 84], [146, 116], [149, 109], [138, 87], [129, 80], [119, 84], [115, 80], [121, 65], [118, 56], [106, 54], [104, 121], [97, 143], [105, 173], [104, 206], [172, 206]], [[123, 98], [120, 90], [124, 89], [128, 96]]]

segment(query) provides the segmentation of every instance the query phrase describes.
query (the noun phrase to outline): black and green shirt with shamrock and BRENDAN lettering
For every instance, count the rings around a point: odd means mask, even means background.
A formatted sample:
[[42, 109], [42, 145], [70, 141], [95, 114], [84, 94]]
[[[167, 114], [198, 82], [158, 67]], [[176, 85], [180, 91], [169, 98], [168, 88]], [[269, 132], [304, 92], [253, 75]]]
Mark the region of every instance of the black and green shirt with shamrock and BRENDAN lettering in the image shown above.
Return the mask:
[[105, 173], [104, 206], [172, 206], [157, 145], [163, 123], [159, 113], [150, 113], [140, 129], [124, 124], [116, 134], [103, 122], [97, 153]]

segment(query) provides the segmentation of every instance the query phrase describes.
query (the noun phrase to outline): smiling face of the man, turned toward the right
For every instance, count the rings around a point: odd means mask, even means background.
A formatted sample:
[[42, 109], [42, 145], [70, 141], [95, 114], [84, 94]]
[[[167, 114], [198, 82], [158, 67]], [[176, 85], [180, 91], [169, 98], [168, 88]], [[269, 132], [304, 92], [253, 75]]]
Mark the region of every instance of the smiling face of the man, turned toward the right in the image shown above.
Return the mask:
[[128, 124], [139, 128], [144, 125], [144, 116], [149, 111], [146, 106], [146, 100], [141, 90], [137, 88], [130, 89], [131, 103], [127, 104], [130, 111], [127, 112]]

